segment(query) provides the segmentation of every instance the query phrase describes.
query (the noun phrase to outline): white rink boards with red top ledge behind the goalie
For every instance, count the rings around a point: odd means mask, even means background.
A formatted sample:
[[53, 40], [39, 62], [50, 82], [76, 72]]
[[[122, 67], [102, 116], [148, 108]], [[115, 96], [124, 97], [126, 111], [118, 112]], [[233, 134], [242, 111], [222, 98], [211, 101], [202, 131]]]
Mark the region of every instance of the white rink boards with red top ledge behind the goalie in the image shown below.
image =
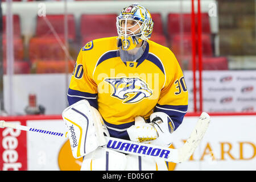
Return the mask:
[[[210, 114], [211, 115], [211, 114]], [[172, 147], [189, 137], [198, 116], [187, 114], [173, 134]], [[12, 117], [6, 121], [65, 133], [61, 116]], [[170, 170], [255, 170], [256, 114], [211, 115], [203, 140], [184, 163], [169, 163]], [[81, 159], [72, 156], [67, 138], [36, 132], [0, 129], [1, 170], [79, 170]]]

